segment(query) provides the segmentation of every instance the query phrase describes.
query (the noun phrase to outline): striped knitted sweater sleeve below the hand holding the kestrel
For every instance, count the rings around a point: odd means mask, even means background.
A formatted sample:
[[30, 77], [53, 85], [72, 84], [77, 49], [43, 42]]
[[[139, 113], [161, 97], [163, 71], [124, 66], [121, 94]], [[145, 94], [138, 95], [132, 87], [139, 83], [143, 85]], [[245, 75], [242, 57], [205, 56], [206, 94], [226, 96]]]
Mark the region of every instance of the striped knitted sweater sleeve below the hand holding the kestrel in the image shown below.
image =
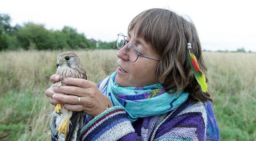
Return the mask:
[[80, 131], [83, 141], [129, 140], [135, 141], [137, 134], [128, 119], [128, 114], [120, 106], [111, 107], [89, 121]]

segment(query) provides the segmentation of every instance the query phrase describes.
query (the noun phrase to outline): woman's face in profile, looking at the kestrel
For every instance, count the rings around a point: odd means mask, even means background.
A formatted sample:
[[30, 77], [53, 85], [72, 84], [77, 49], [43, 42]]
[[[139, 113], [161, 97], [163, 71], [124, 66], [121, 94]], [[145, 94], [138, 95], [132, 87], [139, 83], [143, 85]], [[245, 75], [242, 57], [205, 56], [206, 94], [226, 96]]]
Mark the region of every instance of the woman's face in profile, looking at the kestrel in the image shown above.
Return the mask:
[[[160, 60], [160, 57], [156, 55], [148, 43], [134, 35], [133, 29], [128, 34], [126, 42], [134, 44], [141, 55]], [[126, 44], [116, 53], [119, 58], [115, 78], [117, 85], [121, 87], [142, 87], [157, 83], [156, 68], [159, 62], [142, 56], [139, 56], [136, 62], [131, 62], [126, 54], [127, 46]], [[123, 69], [124, 71], [121, 71]]]

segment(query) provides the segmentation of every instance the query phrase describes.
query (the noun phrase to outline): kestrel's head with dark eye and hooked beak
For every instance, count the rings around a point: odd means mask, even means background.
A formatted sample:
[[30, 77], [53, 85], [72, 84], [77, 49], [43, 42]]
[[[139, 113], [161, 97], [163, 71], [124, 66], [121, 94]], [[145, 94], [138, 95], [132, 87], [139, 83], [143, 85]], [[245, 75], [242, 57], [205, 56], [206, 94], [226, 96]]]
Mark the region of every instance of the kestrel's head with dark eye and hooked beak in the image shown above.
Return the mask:
[[57, 68], [59, 66], [66, 66], [72, 68], [73, 66], [76, 66], [78, 64], [81, 64], [81, 61], [74, 52], [66, 51], [59, 54], [57, 57]]

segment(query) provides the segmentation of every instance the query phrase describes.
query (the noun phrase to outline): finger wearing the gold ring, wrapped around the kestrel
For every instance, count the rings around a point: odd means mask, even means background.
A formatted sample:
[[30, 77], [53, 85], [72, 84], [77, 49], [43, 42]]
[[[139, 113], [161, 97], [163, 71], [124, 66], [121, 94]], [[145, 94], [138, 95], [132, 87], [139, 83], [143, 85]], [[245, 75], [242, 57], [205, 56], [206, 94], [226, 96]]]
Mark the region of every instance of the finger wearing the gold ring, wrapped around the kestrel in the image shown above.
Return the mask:
[[[82, 98], [83, 97], [80, 97], [80, 99], [82, 99]], [[70, 104], [76, 104], [78, 102], [78, 96], [58, 94], [58, 93], [53, 94], [52, 99], [58, 100], [62, 103], [70, 103]], [[82, 104], [82, 100], [81, 100], [81, 104]]]

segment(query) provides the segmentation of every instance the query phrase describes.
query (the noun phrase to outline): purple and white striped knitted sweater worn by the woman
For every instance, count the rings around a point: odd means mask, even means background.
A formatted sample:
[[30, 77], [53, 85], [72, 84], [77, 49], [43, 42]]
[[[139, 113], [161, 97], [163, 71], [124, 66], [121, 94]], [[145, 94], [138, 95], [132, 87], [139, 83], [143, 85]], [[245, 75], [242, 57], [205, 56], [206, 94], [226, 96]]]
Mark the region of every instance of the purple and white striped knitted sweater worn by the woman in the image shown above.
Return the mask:
[[[187, 100], [171, 112], [135, 122], [128, 119], [120, 106], [108, 108], [96, 117], [84, 113], [84, 117], [79, 134], [83, 141], [220, 140], [210, 102], [189, 103]], [[56, 136], [52, 135], [52, 140], [57, 141]]]

